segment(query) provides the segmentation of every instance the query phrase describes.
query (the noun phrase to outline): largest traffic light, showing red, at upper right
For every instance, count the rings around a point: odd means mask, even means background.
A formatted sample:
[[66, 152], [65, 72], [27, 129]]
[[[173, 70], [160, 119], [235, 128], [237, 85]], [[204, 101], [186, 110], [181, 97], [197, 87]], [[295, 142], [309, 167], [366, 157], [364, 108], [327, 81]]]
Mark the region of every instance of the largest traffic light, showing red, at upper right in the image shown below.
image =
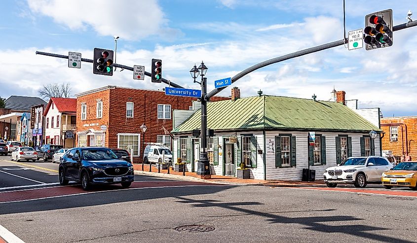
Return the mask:
[[372, 50], [392, 45], [392, 9], [365, 16], [365, 48]]

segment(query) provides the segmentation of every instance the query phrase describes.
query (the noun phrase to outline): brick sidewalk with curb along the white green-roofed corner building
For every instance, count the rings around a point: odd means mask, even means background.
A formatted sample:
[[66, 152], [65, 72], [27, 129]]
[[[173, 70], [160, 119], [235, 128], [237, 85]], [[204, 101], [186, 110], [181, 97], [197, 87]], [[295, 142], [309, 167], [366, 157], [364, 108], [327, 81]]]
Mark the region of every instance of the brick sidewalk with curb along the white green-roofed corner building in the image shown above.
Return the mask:
[[221, 184], [231, 184], [231, 185], [264, 185], [264, 186], [293, 186], [293, 185], [305, 185], [305, 186], [325, 186], [325, 183], [321, 181], [283, 181], [283, 180], [256, 180], [256, 179], [238, 179], [236, 177], [224, 176], [224, 175], [212, 175], [211, 179], [201, 179], [198, 178], [198, 175], [195, 172], [186, 172], [183, 175], [182, 172], [174, 172], [170, 170], [160, 170], [158, 173], [157, 167], [152, 166], [151, 172], [149, 172], [149, 165], [142, 164], [133, 164], [135, 174], [148, 174], [152, 176], [181, 179], [181, 180], [192, 180], [192, 181], [201, 181], [201, 182], [210, 182], [210, 183], [221, 183]]

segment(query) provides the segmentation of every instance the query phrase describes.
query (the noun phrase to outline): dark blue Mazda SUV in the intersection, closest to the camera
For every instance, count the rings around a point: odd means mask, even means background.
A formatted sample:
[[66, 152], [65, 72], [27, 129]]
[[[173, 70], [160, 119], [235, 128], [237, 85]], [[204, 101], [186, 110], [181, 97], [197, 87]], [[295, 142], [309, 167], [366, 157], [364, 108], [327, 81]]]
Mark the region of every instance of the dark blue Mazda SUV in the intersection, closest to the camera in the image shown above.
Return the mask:
[[70, 180], [80, 182], [82, 189], [92, 184], [116, 184], [129, 187], [134, 181], [131, 163], [118, 159], [106, 147], [72, 148], [62, 156], [59, 164], [59, 182], [67, 185]]

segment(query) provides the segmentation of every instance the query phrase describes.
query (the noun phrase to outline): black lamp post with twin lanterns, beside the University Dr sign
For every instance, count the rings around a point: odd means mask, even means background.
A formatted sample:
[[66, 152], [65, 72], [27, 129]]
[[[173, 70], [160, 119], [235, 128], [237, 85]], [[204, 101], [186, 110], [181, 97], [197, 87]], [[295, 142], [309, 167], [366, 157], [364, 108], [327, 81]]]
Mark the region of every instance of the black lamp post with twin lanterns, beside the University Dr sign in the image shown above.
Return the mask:
[[[201, 85], [201, 146], [200, 156], [198, 158], [197, 174], [204, 179], [211, 178], [210, 162], [207, 156], [207, 78], [204, 77], [206, 75], [207, 69], [208, 68], [204, 65], [204, 62], [201, 61], [201, 65], [197, 69], [194, 65], [194, 67], [190, 70], [191, 77], [194, 78], [194, 82]], [[198, 75], [201, 76], [201, 83], [195, 81]]]

